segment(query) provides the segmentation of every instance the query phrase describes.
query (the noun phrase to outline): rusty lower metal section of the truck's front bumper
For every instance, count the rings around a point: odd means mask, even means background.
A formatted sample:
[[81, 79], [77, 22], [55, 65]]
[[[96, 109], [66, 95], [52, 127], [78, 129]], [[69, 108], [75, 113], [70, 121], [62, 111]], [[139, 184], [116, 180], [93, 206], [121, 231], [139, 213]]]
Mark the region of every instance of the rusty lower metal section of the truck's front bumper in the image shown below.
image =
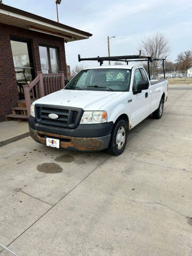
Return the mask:
[[110, 134], [99, 138], [69, 137], [65, 135], [35, 131], [29, 127], [31, 138], [46, 145], [46, 137], [60, 139], [60, 148], [79, 151], [99, 151], [108, 148]]

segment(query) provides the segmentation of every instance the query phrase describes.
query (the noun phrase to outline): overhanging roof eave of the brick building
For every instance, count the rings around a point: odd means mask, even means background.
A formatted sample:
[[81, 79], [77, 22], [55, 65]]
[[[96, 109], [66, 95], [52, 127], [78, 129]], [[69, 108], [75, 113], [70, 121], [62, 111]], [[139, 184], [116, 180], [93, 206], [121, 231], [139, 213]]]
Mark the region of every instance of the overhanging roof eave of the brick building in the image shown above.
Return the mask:
[[5, 4], [0, 4], [0, 23], [63, 37], [67, 42], [86, 39], [92, 36], [88, 32]]

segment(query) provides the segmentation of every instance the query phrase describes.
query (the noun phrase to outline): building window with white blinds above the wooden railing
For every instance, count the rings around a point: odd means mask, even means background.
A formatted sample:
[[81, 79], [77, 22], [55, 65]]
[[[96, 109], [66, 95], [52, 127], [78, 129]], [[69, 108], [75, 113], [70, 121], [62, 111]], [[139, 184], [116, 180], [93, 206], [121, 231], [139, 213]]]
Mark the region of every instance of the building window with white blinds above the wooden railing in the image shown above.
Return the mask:
[[58, 49], [49, 46], [39, 45], [41, 68], [44, 74], [58, 73], [59, 60]]

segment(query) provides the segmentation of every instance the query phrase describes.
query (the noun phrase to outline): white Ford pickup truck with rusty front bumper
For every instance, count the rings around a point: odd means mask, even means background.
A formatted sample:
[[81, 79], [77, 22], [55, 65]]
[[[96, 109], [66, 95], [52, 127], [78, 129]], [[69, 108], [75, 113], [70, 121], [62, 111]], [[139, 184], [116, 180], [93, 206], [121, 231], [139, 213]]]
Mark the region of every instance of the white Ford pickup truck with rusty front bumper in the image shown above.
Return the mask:
[[129, 130], [150, 114], [162, 117], [166, 99], [167, 79], [150, 82], [142, 66], [87, 68], [33, 102], [30, 135], [46, 146], [119, 155]]

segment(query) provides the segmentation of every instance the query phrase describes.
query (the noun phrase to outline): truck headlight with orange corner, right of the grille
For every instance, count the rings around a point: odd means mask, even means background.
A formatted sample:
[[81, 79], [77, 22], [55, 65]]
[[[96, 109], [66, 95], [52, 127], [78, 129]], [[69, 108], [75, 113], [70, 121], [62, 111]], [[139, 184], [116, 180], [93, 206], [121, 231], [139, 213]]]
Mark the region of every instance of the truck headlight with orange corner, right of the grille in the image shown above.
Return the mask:
[[107, 112], [106, 111], [85, 111], [81, 124], [100, 124], [107, 122]]

